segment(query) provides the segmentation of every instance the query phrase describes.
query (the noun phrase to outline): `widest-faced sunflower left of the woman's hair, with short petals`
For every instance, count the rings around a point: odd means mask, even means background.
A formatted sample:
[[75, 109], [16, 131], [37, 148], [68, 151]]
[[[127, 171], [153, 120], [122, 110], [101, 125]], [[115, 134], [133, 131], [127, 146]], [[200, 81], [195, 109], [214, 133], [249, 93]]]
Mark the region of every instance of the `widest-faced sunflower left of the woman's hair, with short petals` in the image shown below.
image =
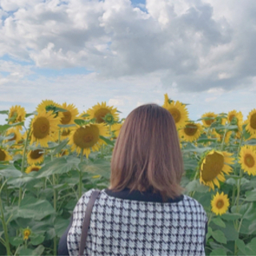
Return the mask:
[[100, 136], [109, 136], [107, 127], [103, 124], [90, 124], [86, 126], [76, 126], [70, 133], [71, 150], [76, 150], [80, 154], [86, 154], [88, 158], [90, 150], [99, 150], [102, 143], [105, 143]]

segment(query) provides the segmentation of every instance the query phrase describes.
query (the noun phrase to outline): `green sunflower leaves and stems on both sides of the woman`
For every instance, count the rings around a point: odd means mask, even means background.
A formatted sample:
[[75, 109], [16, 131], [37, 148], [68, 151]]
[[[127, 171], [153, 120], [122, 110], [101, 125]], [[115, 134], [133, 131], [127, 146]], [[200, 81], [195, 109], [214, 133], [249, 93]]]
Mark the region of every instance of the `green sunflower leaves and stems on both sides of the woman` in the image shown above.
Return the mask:
[[[55, 117], [59, 112], [66, 111], [57, 106], [47, 106], [47, 111], [49, 110], [54, 111]], [[0, 114], [8, 113], [8, 110], [0, 111]], [[37, 113], [26, 114], [26, 118], [34, 114]], [[88, 116], [84, 114], [82, 118]], [[181, 184], [185, 189], [184, 193], [198, 200], [206, 210], [208, 218], [206, 255], [254, 255], [256, 177], [243, 172], [238, 157], [241, 146], [256, 146], [256, 139], [250, 138], [251, 134], [245, 130], [245, 125], [240, 131], [242, 139], [236, 138], [237, 120], [222, 125], [222, 118], [226, 116], [220, 114], [217, 118], [199, 119], [214, 120], [214, 122], [210, 127], [205, 128], [197, 141], [182, 141], [184, 174]], [[15, 119], [16, 116], [12, 118]], [[95, 119], [82, 118], [74, 119], [73, 124], [58, 126], [62, 130], [72, 130], [74, 126], [95, 123]], [[103, 120], [110, 126], [115, 122], [121, 122], [115, 121], [110, 114]], [[12, 119], [6, 121], [10, 122]], [[105, 144], [98, 152], [91, 152], [89, 158], [85, 158], [71, 152], [68, 138], [48, 142], [46, 148], [35, 144], [25, 146], [26, 140], [19, 145], [14, 141], [6, 142], [14, 136], [14, 134], [6, 136], [6, 130], [13, 126], [24, 126], [24, 123], [7, 123], [0, 126], [0, 146], [13, 157], [10, 162], [0, 162], [0, 199], [4, 209], [0, 222], [2, 242], [0, 251], [7, 254], [6, 239], [9, 239], [12, 255], [53, 255], [57, 253], [58, 240], [69, 225], [70, 216], [81, 195], [92, 188], [102, 190], [109, 186], [110, 161], [115, 140], [111, 136], [105, 138], [99, 135]], [[229, 142], [214, 137], [213, 130], [222, 137], [225, 136], [226, 131], [232, 131]], [[26, 167], [29, 166], [26, 154], [28, 150], [37, 149], [44, 152], [44, 161], [40, 163], [42, 168], [38, 172], [32, 171], [26, 174]], [[24, 157], [23, 150], [25, 150]], [[220, 188], [214, 191], [199, 182], [200, 166], [210, 150], [225, 150], [234, 154], [235, 158], [234, 164], [230, 165], [234, 170], [233, 173], [226, 175], [226, 181], [220, 182]], [[217, 190], [219, 193], [223, 191], [227, 194], [230, 202], [229, 209], [222, 215], [216, 215], [211, 210], [211, 200]], [[5, 225], [6, 230], [4, 230]], [[26, 227], [31, 230], [27, 241], [24, 240], [22, 233]]]

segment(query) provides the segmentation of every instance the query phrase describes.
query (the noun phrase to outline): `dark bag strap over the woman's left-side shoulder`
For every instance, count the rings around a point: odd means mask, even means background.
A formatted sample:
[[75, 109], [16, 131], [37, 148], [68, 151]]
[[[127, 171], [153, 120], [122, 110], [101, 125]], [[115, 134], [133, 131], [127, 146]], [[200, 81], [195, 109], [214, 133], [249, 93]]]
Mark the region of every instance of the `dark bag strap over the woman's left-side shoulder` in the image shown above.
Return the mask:
[[82, 234], [81, 234], [80, 247], [79, 247], [79, 256], [83, 255], [83, 252], [86, 247], [86, 238], [87, 238], [88, 228], [90, 224], [90, 214], [91, 214], [91, 211], [93, 210], [94, 202], [100, 192], [101, 192], [100, 190], [94, 190], [86, 206], [85, 219], [82, 223]]

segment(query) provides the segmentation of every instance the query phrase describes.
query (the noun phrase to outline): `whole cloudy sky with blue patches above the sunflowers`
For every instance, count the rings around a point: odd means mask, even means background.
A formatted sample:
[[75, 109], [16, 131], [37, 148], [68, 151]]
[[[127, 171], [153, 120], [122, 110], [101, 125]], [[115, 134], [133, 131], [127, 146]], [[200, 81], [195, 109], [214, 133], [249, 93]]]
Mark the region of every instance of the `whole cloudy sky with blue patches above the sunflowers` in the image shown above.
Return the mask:
[[192, 120], [256, 107], [255, 0], [0, 0], [0, 18], [0, 110], [104, 101], [126, 117], [165, 93]]

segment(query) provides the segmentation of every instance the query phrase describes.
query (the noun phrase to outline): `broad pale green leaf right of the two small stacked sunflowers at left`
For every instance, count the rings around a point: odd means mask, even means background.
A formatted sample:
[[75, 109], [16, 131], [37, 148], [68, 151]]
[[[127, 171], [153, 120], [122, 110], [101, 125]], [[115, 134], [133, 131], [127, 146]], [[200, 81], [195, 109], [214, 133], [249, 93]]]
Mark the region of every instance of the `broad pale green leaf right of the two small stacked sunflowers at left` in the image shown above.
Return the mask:
[[65, 158], [56, 158], [38, 170], [36, 178], [49, 177], [53, 174], [66, 174], [72, 170], [73, 166], [73, 164], [66, 162]]

